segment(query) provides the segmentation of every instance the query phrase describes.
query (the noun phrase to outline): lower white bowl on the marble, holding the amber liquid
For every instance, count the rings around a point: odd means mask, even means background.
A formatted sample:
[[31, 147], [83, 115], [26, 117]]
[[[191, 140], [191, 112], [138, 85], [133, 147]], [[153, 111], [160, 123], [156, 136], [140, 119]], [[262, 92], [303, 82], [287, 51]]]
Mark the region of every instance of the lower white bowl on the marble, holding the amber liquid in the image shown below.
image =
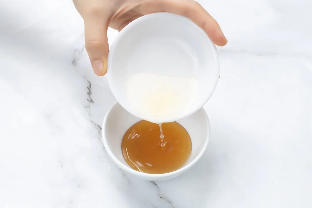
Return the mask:
[[105, 115], [102, 125], [102, 139], [108, 155], [115, 164], [127, 173], [149, 181], [167, 180], [179, 176], [190, 169], [205, 152], [210, 135], [210, 124], [203, 108], [178, 121], [189, 133], [192, 153], [188, 162], [180, 169], [163, 174], [148, 174], [129, 167], [121, 152], [121, 142], [126, 131], [141, 119], [126, 111], [119, 103], [113, 105]]

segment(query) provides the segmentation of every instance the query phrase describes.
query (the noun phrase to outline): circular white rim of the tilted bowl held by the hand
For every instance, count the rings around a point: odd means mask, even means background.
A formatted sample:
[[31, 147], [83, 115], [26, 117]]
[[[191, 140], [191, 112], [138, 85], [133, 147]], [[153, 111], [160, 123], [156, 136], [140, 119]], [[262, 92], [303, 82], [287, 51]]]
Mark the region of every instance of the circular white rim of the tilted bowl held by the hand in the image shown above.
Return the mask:
[[[183, 17], [183, 16], [180, 16], [180, 15], [172, 14], [172, 13], [168, 13], [168, 12], [157, 12], [157, 13], [152, 13], [152, 14], [148, 14], [148, 15], [139, 17], [138, 19], [130, 22], [126, 27], [124, 27], [124, 29], [122, 29], [119, 32], [119, 34], [116, 36], [115, 40], [113, 41], [112, 45], [110, 46], [109, 53], [108, 53], [108, 58], [107, 58], [107, 73], [106, 73], [105, 76], [107, 77], [108, 84], [110, 86], [110, 89], [111, 89], [114, 97], [119, 102], [122, 99], [120, 99], [121, 96], [119, 95], [119, 93], [117, 93], [117, 90], [116, 90], [116, 87], [115, 87], [115, 82], [114, 82], [113, 77], [112, 77], [112, 67], [111, 67], [111, 64], [110, 64], [112, 62], [112, 60], [113, 60], [113, 55], [115, 53], [117, 45], [119, 44], [119, 41], [124, 37], [124, 35], [129, 30], [131, 30], [134, 25], [138, 24], [139, 22], [144, 21], [145, 19], [157, 18], [157, 17], [161, 17], [161, 16], [179, 17], [181, 20], [184, 20], [186, 22], [191, 23], [194, 26], [194, 30], [196, 30], [194, 32], [202, 33], [203, 35], [205, 35], [207, 37], [208, 42], [212, 46], [212, 51], [213, 51], [213, 55], [214, 55], [213, 60], [216, 62], [216, 65], [217, 65], [216, 68], [214, 69], [214, 70], [217, 71], [217, 75], [214, 78], [214, 85], [211, 88], [211, 90], [206, 94], [206, 99], [204, 99], [203, 102], [201, 102], [201, 103], [195, 104], [196, 107], [194, 107], [193, 110], [189, 110], [185, 114], [182, 114], [181, 116], [179, 116], [179, 117], [177, 117], [177, 118], [175, 118], [173, 120], [166, 120], [165, 121], [165, 122], [173, 122], [173, 121], [177, 121], [177, 120], [183, 119], [185, 117], [188, 117], [191, 114], [194, 114], [195, 112], [197, 112], [200, 108], [202, 108], [202, 106], [204, 104], [206, 104], [207, 101], [211, 98], [214, 90], [216, 89], [217, 83], [218, 83], [218, 80], [219, 80], [219, 75], [220, 75], [220, 61], [219, 61], [219, 56], [218, 56], [217, 48], [216, 48], [215, 44], [210, 40], [210, 38], [208, 37], [206, 32], [202, 28], [197, 26], [194, 22], [192, 22], [190, 19], [188, 19], [187, 17]], [[129, 113], [135, 115], [136, 117], [139, 117], [139, 118], [141, 118], [143, 120], [148, 120], [148, 118], [145, 118], [144, 116], [137, 114], [137, 112], [135, 112], [135, 110], [133, 110], [131, 107], [129, 107], [129, 105], [127, 105], [126, 102], [125, 103], [121, 102], [119, 104], [124, 109], [126, 109]]]

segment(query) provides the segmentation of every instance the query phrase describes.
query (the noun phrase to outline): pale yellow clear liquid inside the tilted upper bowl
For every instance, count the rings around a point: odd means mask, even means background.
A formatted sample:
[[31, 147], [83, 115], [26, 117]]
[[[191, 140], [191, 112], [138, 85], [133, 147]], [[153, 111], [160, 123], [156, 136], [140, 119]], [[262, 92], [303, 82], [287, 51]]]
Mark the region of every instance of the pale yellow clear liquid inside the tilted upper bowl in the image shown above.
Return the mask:
[[198, 82], [192, 77], [136, 73], [129, 77], [126, 94], [136, 116], [163, 123], [188, 111], [197, 97]]

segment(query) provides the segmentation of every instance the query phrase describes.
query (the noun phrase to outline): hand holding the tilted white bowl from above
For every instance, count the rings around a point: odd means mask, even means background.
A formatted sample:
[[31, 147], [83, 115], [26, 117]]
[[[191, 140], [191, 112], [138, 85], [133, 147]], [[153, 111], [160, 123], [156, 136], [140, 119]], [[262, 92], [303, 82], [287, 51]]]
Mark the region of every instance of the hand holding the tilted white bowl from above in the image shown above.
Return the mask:
[[217, 21], [193, 0], [73, 0], [85, 23], [85, 48], [95, 74], [107, 71], [107, 29], [121, 31], [144, 15], [170, 12], [188, 17], [201, 27], [218, 46], [227, 44]]

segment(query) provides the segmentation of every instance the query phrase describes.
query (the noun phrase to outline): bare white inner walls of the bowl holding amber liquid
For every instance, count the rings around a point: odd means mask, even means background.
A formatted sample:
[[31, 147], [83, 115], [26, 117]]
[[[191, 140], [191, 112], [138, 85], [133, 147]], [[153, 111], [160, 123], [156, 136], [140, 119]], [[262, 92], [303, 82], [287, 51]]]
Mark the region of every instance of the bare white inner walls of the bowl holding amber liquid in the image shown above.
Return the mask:
[[[118, 160], [128, 168], [130, 167], [125, 162], [121, 152], [121, 142], [126, 131], [140, 120], [116, 103], [107, 114], [103, 123], [104, 135], [102, 137], [103, 140], [106, 140], [106, 148], [109, 148], [115, 162]], [[192, 153], [188, 162], [184, 165], [186, 166], [200, 154], [205, 147], [205, 143], [208, 142], [209, 121], [204, 109], [200, 109], [187, 118], [179, 120], [178, 123], [188, 131], [192, 141]]]

